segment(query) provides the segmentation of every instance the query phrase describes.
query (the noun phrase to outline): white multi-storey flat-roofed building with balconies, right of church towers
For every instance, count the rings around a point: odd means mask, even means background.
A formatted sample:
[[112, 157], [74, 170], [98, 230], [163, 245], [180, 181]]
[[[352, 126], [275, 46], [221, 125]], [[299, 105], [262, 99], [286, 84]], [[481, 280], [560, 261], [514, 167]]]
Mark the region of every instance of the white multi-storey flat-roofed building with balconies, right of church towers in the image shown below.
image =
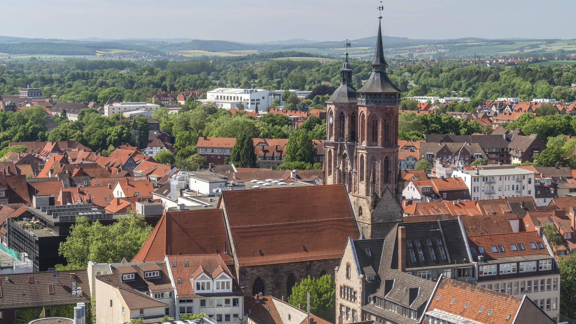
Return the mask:
[[470, 190], [472, 200], [498, 197], [535, 197], [535, 172], [515, 167], [458, 168], [452, 173], [460, 177]]

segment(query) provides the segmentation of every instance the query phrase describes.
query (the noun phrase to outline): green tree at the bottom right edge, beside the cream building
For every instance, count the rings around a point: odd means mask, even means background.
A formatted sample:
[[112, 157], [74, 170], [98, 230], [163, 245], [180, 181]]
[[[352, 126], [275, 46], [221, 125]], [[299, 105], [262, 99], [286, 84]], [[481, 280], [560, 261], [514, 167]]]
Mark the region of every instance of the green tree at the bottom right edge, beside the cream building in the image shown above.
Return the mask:
[[576, 318], [576, 254], [558, 258], [560, 266], [560, 310], [565, 319]]

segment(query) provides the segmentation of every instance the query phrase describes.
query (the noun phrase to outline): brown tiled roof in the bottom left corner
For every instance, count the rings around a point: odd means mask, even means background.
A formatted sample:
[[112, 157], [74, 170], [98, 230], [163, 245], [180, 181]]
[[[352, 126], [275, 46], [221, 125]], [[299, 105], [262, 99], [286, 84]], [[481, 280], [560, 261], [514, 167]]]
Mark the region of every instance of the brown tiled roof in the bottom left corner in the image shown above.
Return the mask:
[[[90, 302], [90, 286], [86, 269], [16, 273], [0, 275], [0, 308], [39, 307]], [[74, 279], [71, 274], [74, 273]], [[71, 282], [82, 288], [82, 295], [71, 293]], [[48, 291], [49, 285], [54, 293]], [[24, 293], [22, 293], [24, 292]]]

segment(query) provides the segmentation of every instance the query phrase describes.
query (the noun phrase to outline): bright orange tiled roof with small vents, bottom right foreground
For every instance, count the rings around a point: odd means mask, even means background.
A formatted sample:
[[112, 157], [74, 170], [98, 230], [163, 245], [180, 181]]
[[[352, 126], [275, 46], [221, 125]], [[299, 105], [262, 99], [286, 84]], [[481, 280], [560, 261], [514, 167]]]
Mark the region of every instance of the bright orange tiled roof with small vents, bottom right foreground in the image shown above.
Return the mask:
[[512, 323], [521, 304], [522, 297], [442, 278], [427, 311], [445, 311], [480, 323]]

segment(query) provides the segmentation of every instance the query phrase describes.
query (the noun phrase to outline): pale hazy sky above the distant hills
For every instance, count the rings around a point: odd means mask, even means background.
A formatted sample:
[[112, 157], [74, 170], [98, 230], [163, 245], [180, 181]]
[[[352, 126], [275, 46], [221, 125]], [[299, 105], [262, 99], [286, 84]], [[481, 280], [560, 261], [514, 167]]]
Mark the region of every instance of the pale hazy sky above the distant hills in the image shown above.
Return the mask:
[[[378, 1], [0, 0], [0, 35], [59, 39], [172, 38], [268, 42], [376, 35]], [[382, 33], [412, 39], [576, 38], [574, 0], [385, 1]], [[21, 13], [21, 14], [19, 14]], [[18, 19], [17, 17], [26, 17]]]

